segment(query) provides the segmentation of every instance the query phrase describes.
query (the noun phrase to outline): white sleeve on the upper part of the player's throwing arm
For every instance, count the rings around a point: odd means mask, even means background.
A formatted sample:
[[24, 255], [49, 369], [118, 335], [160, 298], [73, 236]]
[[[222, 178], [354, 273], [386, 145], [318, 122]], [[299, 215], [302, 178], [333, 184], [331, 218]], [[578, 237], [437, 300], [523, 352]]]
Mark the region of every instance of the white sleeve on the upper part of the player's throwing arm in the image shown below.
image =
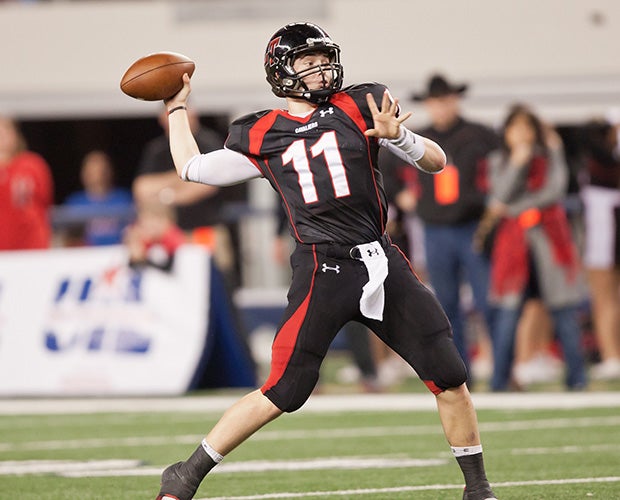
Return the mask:
[[227, 148], [193, 156], [181, 172], [184, 181], [210, 186], [231, 186], [261, 176], [246, 156]]

